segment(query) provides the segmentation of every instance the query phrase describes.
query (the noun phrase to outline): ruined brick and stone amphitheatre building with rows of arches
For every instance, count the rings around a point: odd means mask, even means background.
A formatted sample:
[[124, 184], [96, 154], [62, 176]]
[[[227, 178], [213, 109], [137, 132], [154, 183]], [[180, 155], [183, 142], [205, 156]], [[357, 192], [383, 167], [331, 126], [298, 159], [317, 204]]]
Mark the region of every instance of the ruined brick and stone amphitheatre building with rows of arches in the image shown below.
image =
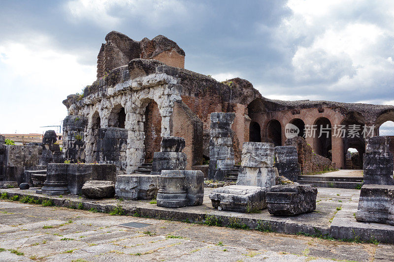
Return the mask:
[[[394, 120], [393, 106], [271, 100], [247, 80], [220, 83], [184, 69], [185, 52], [162, 35], [134, 41], [112, 31], [105, 40], [98, 56], [97, 81], [85, 88], [83, 97], [69, 95], [64, 104], [69, 115], [88, 119], [84, 133], [87, 162], [103, 161], [97, 159], [100, 128], [121, 128], [128, 134], [127, 146], [122, 147], [121, 167], [125, 168], [119, 172], [130, 174], [141, 163], [151, 161], [164, 136], [185, 138], [187, 169], [201, 164], [209, 156], [209, 116], [213, 112], [235, 113], [231, 126], [235, 163], [240, 162], [244, 142], [284, 145], [288, 123], [301, 130], [305, 125], [327, 125], [331, 128], [327, 138], [307, 137], [304, 149], [298, 152], [304, 173], [327, 168], [331, 165], [328, 158], [337, 168], [345, 168], [349, 147], [358, 149], [362, 159], [364, 139], [337, 137], [335, 125], [345, 125], [346, 132], [354, 124], [375, 125], [377, 135], [382, 123]], [[311, 150], [321, 157], [306, 157]]]

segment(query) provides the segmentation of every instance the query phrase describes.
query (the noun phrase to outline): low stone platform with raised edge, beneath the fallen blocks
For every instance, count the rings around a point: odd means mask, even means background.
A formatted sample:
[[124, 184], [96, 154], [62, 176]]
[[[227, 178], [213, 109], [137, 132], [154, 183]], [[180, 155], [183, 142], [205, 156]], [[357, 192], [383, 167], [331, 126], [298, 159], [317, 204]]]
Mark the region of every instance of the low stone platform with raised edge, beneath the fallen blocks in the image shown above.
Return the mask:
[[[394, 243], [394, 226], [378, 223], [357, 222], [357, 212], [360, 190], [319, 188], [317, 195], [316, 210], [310, 213], [293, 217], [273, 216], [267, 209], [260, 213], [236, 213], [231, 211], [219, 211], [212, 207], [209, 193], [213, 190], [204, 189], [204, 202], [199, 206], [187, 206], [182, 208], [158, 207], [149, 204], [149, 200], [124, 200], [113, 199], [89, 200], [78, 198], [75, 195], [46, 196], [35, 194], [37, 188], [19, 190], [17, 188], [1, 189], [9, 196], [30, 195], [37, 199], [51, 199], [56, 205], [66, 207], [82, 206], [83, 209], [95, 208], [99, 211], [110, 212], [118, 204], [122, 206], [126, 215], [140, 215], [151, 218], [161, 218], [178, 221], [190, 221], [203, 223], [207, 219], [219, 221], [222, 226], [229, 224], [230, 220], [236, 219], [240, 225], [245, 224], [251, 229], [258, 225], [264, 229], [278, 233], [308, 233], [311, 235], [327, 235], [336, 239], [358, 239], [362, 241], [380, 241]], [[82, 203], [82, 205], [80, 205]]]

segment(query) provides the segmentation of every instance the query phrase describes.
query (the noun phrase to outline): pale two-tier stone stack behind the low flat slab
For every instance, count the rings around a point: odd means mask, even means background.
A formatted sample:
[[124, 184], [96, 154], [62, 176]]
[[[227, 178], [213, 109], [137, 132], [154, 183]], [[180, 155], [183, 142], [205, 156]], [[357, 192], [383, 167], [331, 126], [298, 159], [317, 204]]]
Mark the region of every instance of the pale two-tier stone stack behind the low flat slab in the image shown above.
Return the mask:
[[274, 145], [271, 143], [245, 142], [237, 185], [270, 188], [275, 185], [278, 170], [274, 166]]

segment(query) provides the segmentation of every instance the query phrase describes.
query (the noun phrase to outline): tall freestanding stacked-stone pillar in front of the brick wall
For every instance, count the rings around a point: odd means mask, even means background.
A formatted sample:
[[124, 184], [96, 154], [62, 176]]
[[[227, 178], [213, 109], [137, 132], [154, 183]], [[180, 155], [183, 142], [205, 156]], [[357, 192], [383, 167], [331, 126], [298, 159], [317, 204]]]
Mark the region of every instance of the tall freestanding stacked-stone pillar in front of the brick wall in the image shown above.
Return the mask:
[[208, 179], [223, 181], [234, 168], [231, 130], [234, 118], [234, 113], [211, 113]]

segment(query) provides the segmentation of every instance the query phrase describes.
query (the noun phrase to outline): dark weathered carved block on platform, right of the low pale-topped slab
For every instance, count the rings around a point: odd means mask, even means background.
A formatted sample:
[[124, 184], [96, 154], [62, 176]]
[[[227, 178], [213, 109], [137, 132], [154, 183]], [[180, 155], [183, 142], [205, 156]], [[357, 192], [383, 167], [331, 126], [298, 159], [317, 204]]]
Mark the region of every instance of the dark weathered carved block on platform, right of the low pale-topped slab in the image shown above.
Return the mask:
[[311, 185], [276, 185], [267, 192], [271, 215], [294, 216], [316, 209], [317, 189]]

